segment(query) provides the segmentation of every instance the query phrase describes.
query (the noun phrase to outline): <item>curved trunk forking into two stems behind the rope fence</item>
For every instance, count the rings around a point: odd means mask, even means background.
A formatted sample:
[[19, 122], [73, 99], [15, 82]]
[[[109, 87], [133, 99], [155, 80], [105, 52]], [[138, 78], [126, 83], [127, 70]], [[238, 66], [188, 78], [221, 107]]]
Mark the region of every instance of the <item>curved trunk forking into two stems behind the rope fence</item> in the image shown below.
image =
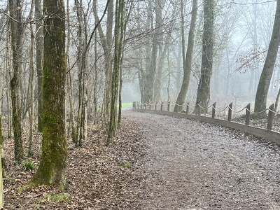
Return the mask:
[[182, 52], [183, 52], [183, 83], [181, 90], [176, 100], [174, 107], [175, 112], [182, 111], [183, 103], [186, 100], [186, 94], [188, 92], [188, 85], [190, 84], [190, 73], [192, 71], [193, 62], [193, 46], [195, 43], [195, 24], [197, 20], [197, 0], [193, 0], [192, 18], [190, 20], [190, 31], [188, 33], [188, 48], [185, 55], [185, 33], [184, 33], [184, 17], [183, 15], [183, 0], [181, 0], [181, 19], [182, 19]]

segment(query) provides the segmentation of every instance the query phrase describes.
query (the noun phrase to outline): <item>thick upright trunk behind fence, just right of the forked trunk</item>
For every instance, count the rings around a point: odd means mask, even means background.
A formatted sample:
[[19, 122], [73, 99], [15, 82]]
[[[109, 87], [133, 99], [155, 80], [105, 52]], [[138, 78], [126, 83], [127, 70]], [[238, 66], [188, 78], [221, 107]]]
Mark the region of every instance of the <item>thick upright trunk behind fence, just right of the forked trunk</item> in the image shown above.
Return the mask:
[[[207, 107], [210, 100], [210, 80], [213, 68], [214, 45], [214, 0], [204, 1], [204, 27], [202, 37], [202, 67], [200, 83], [197, 90], [196, 104]], [[195, 106], [194, 113], [198, 113], [199, 106]], [[202, 113], [207, 113], [203, 109]]]

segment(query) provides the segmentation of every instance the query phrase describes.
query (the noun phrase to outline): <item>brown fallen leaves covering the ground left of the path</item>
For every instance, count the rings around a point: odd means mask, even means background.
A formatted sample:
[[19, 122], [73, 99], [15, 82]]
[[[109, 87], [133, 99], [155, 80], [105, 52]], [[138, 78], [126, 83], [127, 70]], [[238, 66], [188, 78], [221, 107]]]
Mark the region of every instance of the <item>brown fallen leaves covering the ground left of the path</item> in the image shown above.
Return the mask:
[[[124, 119], [111, 146], [106, 147], [106, 132], [102, 127], [90, 125], [82, 148], [75, 148], [69, 141], [66, 169], [69, 190], [59, 192], [41, 186], [18, 193], [34, 172], [14, 164], [13, 140], [7, 139], [4, 209], [137, 209], [141, 195], [135, 189], [144, 179], [137, 173], [137, 160], [144, 155], [144, 144], [140, 140], [138, 125]], [[36, 167], [40, 145], [41, 137], [36, 135], [34, 158], [30, 159]]]

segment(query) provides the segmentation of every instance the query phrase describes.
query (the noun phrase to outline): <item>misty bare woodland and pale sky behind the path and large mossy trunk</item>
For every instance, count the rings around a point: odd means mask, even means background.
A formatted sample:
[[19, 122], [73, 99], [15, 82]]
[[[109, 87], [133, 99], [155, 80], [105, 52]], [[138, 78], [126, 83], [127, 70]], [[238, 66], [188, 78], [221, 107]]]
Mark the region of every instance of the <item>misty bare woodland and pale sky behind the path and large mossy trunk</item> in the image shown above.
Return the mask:
[[[110, 144], [122, 98], [134, 87], [142, 103], [255, 102], [261, 111], [276, 98], [279, 1], [59, 2], [65, 11], [66, 130], [76, 146], [87, 139], [88, 122], [102, 123]], [[31, 155], [32, 134], [43, 130], [45, 24], [60, 10], [44, 9], [42, 0], [0, 3], [1, 116], [15, 139], [15, 160], [24, 156], [22, 132], [29, 132]]]

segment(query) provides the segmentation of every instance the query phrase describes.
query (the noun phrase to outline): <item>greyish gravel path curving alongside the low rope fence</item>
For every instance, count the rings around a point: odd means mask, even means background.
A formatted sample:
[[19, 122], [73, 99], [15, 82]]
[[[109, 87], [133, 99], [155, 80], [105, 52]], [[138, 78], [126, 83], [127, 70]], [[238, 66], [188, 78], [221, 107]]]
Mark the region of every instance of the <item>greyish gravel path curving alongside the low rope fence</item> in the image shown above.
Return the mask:
[[137, 209], [280, 209], [280, 149], [194, 120], [125, 111], [147, 146]]

